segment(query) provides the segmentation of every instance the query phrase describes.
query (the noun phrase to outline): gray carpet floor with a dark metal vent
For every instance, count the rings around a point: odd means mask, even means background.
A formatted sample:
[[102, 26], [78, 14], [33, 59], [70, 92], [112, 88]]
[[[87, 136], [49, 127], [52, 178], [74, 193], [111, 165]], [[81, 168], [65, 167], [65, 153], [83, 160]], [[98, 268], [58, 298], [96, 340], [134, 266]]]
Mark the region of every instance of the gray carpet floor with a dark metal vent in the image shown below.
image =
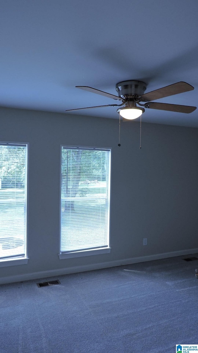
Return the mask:
[[[198, 260], [180, 256], [0, 286], [0, 353], [175, 352], [198, 344]], [[60, 280], [38, 288], [36, 283]]]

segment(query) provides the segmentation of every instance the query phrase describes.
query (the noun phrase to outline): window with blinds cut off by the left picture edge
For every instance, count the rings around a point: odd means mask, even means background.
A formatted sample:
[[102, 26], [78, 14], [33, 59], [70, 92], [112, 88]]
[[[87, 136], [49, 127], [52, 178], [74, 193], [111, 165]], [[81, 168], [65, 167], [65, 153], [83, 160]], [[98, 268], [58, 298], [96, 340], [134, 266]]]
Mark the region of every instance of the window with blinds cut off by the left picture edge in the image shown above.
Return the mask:
[[26, 184], [27, 145], [0, 142], [0, 262], [26, 257]]

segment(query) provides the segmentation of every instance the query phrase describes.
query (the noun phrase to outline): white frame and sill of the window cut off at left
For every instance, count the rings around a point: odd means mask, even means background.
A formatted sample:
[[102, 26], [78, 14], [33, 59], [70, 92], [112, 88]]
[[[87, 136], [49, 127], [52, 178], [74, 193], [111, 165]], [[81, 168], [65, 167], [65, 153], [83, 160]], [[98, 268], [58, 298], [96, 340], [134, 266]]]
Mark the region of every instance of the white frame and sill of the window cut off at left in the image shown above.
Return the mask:
[[26, 145], [26, 249], [25, 249], [25, 256], [14, 256], [11, 258], [4, 258], [0, 259], [0, 267], [7, 267], [7, 266], [16, 266], [16, 265], [23, 265], [27, 264], [29, 257], [28, 257], [28, 196], [29, 196], [29, 143], [28, 142], [8, 142], [8, 141], [0, 141], [0, 144], [4, 145]]

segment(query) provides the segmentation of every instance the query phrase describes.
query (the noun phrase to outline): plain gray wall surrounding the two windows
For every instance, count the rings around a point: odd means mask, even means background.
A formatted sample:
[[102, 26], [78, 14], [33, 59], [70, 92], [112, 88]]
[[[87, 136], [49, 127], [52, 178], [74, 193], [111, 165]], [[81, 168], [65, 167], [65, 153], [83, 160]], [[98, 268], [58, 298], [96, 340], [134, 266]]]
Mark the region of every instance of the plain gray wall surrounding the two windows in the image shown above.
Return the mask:
[[[0, 116], [1, 141], [30, 143], [30, 259], [26, 265], [1, 267], [1, 282], [10, 276], [26, 274], [28, 279], [41, 271], [111, 266], [197, 248], [198, 129], [142, 123], [140, 150], [136, 121], [122, 124], [118, 147], [116, 119], [9, 108], [0, 108]], [[112, 147], [109, 254], [57, 256], [61, 144]], [[148, 238], [147, 246], [143, 238]]]

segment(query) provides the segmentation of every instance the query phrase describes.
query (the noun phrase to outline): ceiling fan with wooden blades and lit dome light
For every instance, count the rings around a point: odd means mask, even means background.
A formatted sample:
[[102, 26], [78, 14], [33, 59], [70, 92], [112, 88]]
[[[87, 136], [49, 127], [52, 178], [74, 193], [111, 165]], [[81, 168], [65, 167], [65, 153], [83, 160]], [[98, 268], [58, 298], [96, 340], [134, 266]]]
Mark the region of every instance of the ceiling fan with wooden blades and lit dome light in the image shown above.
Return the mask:
[[[106, 104], [105, 106], [68, 109], [66, 110], [66, 112], [71, 112], [71, 111], [80, 110], [80, 109], [124, 106], [123, 108], [118, 108], [117, 112], [122, 116], [123, 120], [126, 119], [125, 121], [127, 121], [127, 120], [136, 119], [139, 116], [141, 116], [141, 114], [145, 112], [144, 108], [168, 110], [170, 112], [178, 112], [178, 113], [192, 113], [195, 109], [197, 109], [196, 107], [191, 107], [191, 106], [153, 102], [154, 100], [157, 100], [160, 98], [173, 96], [175, 94], [179, 94], [187, 91], [192, 91], [194, 87], [186, 82], [177, 82], [172, 85], [168, 85], [166, 87], [159, 88], [157, 90], [154, 90], [148, 93], [144, 93], [144, 91], [147, 88], [146, 83], [138, 80], [122, 81], [116, 84], [116, 91], [118, 92], [118, 97], [113, 94], [103, 92], [88, 86], [76, 86], [76, 88], [97, 93], [108, 98], [113, 98], [117, 101], [122, 101], [122, 103]], [[144, 103], [142, 104], [140, 102], [144, 102]], [[141, 106], [143, 108], [138, 107], [137, 104], [138, 106]]]

